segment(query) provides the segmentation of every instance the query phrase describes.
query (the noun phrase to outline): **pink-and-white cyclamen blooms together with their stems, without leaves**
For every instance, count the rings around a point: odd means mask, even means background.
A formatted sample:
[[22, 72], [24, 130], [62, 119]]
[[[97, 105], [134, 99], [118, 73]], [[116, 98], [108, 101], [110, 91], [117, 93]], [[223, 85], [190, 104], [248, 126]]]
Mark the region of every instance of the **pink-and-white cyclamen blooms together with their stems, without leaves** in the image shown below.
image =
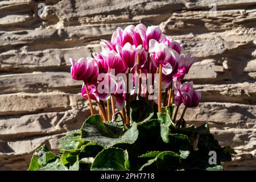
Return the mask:
[[[70, 59], [72, 78], [84, 81], [82, 96], [88, 98], [92, 115], [95, 111], [91, 100], [94, 100], [98, 105], [98, 110], [103, 120], [110, 121], [110, 118], [112, 118], [109, 104], [111, 97], [113, 115], [116, 113], [116, 109], [121, 111], [123, 118], [126, 118], [126, 121], [123, 121], [124, 125], [130, 125], [130, 95], [134, 95], [134, 100], [137, 100], [139, 95], [148, 101], [148, 88], [151, 85], [139, 83], [138, 94], [135, 91], [131, 94], [129, 91], [135, 89], [136, 81], [138, 80], [133, 79], [132, 85], [129, 85], [127, 73], [134, 73], [132, 77], [138, 76], [138, 78], [142, 78], [142, 74], [146, 75], [147, 80], [149, 79], [149, 74], [157, 73], [159, 90], [158, 97], [155, 97], [155, 100], [158, 103], [158, 112], [162, 113], [161, 90], [165, 88], [163, 106], [171, 106], [174, 99], [177, 105], [174, 121], [182, 103], [185, 105], [185, 109], [187, 107], [196, 107], [199, 104], [201, 94], [193, 89], [193, 82], [185, 82], [183, 85], [180, 82], [180, 79], [188, 73], [191, 65], [195, 63], [196, 58], [191, 57], [191, 55], [181, 54], [182, 44], [180, 40], [172, 41], [162, 34], [158, 26], [147, 28], [143, 24], [138, 24], [137, 26], [130, 25], [125, 30], [117, 28], [117, 31], [112, 35], [111, 42], [101, 40], [100, 44], [102, 52], [93, 52], [94, 58], [82, 57], [78, 61]], [[114, 74], [111, 72], [112, 70], [114, 70]], [[126, 82], [119, 84], [122, 86], [121, 93], [117, 93], [117, 89], [119, 89], [118, 80], [115, 79], [115, 76], [119, 73], [127, 76]], [[97, 80], [99, 75], [103, 75], [101, 76], [104, 77], [103, 81]], [[105, 86], [104, 91], [106, 92], [98, 92], [99, 85]], [[102, 102], [105, 100], [107, 100], [108, 115], [106, 114], [104, 102]], [[125, 100], [126, 110], [124, 109]], [[180, 119], [183, 119], [183, 116], [184, 112]]]

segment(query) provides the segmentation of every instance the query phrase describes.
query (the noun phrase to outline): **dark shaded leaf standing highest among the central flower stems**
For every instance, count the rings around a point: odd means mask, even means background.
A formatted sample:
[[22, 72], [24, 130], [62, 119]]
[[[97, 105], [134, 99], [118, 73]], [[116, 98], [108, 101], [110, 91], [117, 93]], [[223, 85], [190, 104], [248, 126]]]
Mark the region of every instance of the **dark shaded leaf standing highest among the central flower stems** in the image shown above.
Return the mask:
[[144, 100], [133, 100], [130, 104], [131, 123], [148, 121], [154, 116], [154, 110]]

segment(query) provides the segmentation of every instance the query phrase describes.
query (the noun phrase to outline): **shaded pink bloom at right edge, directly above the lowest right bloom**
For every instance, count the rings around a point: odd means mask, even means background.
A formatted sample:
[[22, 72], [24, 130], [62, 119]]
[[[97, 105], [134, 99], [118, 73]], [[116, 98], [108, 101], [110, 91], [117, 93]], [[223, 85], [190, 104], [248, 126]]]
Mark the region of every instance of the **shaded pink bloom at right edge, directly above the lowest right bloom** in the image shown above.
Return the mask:
[[191, 57], [191, 54], [188, 55], [180, 55], [179, 58], [179, 67], [177, 69], [177, 73], [174, 77], [179, 79], [184, 78], [186, 74], [188, 74], [189, 69], [191, 68], [192, 64], [195, 63], [196, 57]]

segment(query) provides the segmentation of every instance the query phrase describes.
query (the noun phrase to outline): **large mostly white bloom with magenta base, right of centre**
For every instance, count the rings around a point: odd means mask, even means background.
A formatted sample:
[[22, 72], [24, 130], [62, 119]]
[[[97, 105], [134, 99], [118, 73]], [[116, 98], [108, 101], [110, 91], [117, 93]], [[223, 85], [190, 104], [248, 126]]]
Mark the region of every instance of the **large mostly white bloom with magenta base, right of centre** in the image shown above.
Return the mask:
[[163, 74], [170, 75], [175, 68], [178, 54], [176, 51], [169, 49], [164, 43], [158, 43], [156, 40], [150, 40], [150, 48], [148, 49], [152, 56], [152, 63], [155, 67], [159, 64], [163, 67]]

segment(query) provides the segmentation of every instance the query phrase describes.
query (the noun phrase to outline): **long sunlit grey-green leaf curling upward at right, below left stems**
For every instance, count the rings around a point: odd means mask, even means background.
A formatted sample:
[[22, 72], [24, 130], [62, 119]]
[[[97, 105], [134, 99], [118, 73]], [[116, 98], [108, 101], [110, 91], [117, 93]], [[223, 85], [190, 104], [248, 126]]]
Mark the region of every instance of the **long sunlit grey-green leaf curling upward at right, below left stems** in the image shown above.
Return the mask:
[[[89, 126], [87, 126], [87, 128], [89, 128]], [[119, 143], [132, 144], [138, 138], [137, 124], [135, 122], [131, 125], [131, 128], [127, 130], [125, 134], [123, 134], [121, 138], [109, 138], [102, 136], [101, 133], [97, 133], [98, 135], [96, 135], [96, 133], [93, 133], [92, 135], [90, 135], [90, 133], [87, 134], [87, 137], [82, 139], [85, 141], [97, 143], [104, 147], [112, 147]]]

